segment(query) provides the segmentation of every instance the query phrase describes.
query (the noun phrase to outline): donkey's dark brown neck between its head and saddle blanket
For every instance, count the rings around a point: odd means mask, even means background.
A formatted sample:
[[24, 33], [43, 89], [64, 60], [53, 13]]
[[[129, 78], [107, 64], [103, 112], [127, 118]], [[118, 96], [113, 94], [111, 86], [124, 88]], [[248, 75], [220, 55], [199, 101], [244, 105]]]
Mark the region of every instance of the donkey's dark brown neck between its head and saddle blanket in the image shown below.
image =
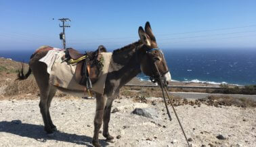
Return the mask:
[[141, 45], [142, 42], [137, 41], [113, 52], [112, 72], [114, 72], [116, 84], [119, 85], [119, 88], [141, 72], [140, 62], [136, 55], [136, 48]]

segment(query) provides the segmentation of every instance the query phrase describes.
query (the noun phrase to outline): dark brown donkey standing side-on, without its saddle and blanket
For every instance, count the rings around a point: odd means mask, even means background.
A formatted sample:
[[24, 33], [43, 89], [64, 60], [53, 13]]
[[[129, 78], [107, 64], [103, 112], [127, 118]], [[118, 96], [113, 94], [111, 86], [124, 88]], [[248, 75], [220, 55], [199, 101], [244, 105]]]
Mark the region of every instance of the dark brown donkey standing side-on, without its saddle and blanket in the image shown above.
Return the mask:
[[[100, 146], [98, 136], [103, 121], [103, 136], [108, 142], [114, 142], [114, 137], [108, 131], [108, 123], [110, 121], [110, 111], [114, 98], [119, 95], [119, 90], [127, 84], [131, 79], [143, 72], [146, 76], [155, 78], [160, 73], [165, 84], [171, 81], [171, 74], [167, 67], [163, 52], [158, 49], [156, 38], [152, 33], [150, 23], [146, 22], [145, 30], [142, 26], [138, 30], [140, 40], [133, 42], [121, 49], [116, 49], [112, 53], [108, 75], [106, 77], [106, 85], [103, 94], [95, 94], [96, 111], [94, 118], [94, 134], [92, 144]], [[40, 89], [39, 107], [45, 125], [47, 134], [53, 134], [56, 126], [51, 121], [49, 107], [56, 90], [64, 92], [72, 92], [72, 90], [60, 88], [49, 83], [49, 74], [47, 73], [47, 65], [39, 61], [47, 54], [47, 51], [39, 51], [29, 61], [29, 70], [24, 76], [22, 72], [18, 76], [19, 80], [28, 78], [31, 71], [35, 76], [35, 80]], [[157, 67], [157, 69], [156, 69]], [[23, 71], [23, 70], [22, 70]], [[158, 81], [159, 82], [159, 81]], [[74, 92], [74, 91], [73, 91]], [[76, 90], [75, 92], [81, 92]]]

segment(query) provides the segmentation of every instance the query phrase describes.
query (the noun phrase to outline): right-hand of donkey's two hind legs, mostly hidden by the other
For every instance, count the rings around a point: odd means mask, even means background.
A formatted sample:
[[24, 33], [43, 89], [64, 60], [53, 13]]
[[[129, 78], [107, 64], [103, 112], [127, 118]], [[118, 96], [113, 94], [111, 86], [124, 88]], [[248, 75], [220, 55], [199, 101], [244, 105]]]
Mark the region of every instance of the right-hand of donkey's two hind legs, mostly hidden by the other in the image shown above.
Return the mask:
[[47, 98], [47, 120], [49, 121], [49, 125], [51, 126], [52, 131], [57, 131], [56, 126], [51, 121], [51, 115], [49, 113], [49, 107], [51, 106], [51, 100], [54, 98], [54, 95], [56, 94], [57, 88], [55, 86], [51, 86], [51, 89], [49, 90], [49, 95]]

